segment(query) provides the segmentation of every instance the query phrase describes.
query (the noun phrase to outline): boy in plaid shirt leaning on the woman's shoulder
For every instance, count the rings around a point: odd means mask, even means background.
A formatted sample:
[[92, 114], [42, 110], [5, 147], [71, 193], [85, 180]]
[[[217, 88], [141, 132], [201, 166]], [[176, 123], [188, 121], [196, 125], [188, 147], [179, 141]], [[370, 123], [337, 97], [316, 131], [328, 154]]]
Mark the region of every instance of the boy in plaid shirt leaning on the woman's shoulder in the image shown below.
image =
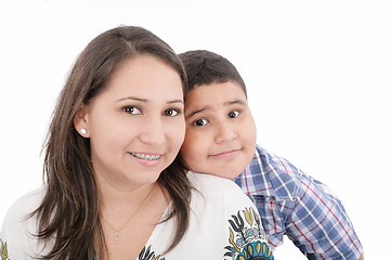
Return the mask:
[[180, 57], [188, 77], [183, 164], [235, 179], [258, 207], [273, 249], [286, 234], [308, 259], [363, 259], [351, 221], [329, 188], [256, 146], [246, 87], [234, 65], [208, 51]]

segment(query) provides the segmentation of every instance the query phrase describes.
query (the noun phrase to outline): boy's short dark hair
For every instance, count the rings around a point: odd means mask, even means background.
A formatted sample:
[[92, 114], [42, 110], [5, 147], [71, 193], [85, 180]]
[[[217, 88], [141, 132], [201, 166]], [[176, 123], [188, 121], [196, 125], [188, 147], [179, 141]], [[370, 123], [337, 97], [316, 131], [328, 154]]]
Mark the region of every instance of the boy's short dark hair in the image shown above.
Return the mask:
[[[205, 50], [188, 51], [179, 54], [188, 79], [187, 92], [197, 86], [212, 82], [236, 81], [247, 96], [246, 86], [236, 67], [227, 58]], [[184, 93], [184, 96], [187, 93]]]

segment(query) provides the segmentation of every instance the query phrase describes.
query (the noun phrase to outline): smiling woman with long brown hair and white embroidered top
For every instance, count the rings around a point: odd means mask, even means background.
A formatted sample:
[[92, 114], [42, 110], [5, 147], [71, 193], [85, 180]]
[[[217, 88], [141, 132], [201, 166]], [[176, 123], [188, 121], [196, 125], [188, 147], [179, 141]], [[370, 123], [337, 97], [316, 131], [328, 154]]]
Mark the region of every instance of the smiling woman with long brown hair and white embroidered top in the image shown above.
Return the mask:
[[92, 40], [53, 114], [46, 185], [5, 217], [2, 258], [229, 259], [249, 246], [265, 255], [239, 188], [173, 161], [185, 87], [180, 60], [151, 31], [118, 27]]

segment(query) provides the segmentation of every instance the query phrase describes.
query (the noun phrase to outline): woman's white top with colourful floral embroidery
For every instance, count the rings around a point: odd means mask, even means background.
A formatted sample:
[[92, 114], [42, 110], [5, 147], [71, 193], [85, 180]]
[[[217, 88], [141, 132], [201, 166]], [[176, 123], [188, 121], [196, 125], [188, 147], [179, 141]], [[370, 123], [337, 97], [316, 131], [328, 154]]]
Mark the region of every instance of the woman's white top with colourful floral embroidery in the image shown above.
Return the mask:
[[[162, 256], [171, 242], [174, 219], [158, 224], [139, 260], [273, 259], [255, 205], [234, 182], [192, 171], [187, 177], [194, 187], [187, 232]], [[25, 217], [39, 206], [43, 195], [44, 190], [27, 194], [9, 210], [0, 233], [3, 260], [32, 259], [41, 252], [37, 239], [29, 235], [37, 231], [36, 219]]]

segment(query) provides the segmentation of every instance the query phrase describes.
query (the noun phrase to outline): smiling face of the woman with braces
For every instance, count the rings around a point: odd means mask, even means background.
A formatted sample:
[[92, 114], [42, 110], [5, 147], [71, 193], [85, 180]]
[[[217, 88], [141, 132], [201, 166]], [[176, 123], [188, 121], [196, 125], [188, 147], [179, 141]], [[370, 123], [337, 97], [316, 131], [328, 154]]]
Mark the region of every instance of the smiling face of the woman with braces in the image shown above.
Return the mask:
[[183, 109], [181, 79], [171, 66], [152, 55], [121, 64], [84, 107], [96, 178], [127, 187], [155, 182], [183, 143]]

